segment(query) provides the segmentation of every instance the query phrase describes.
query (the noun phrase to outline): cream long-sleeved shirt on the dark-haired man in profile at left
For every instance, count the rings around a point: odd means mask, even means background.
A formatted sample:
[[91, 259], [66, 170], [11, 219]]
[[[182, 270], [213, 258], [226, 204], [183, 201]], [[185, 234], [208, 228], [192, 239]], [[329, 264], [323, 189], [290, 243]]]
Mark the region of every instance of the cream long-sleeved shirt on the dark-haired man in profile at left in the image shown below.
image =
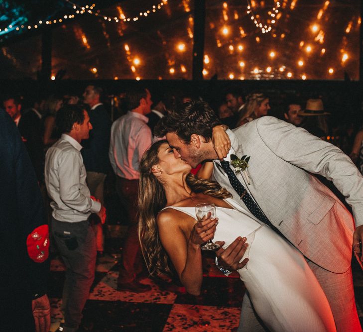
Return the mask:
[[45, 156], [45, 185], [52, 199], [52, 216], [58, 221], [85, 221], [101, 210], [101, 204], [90, 198], [81, 149], [74, 138], [62, 134]]

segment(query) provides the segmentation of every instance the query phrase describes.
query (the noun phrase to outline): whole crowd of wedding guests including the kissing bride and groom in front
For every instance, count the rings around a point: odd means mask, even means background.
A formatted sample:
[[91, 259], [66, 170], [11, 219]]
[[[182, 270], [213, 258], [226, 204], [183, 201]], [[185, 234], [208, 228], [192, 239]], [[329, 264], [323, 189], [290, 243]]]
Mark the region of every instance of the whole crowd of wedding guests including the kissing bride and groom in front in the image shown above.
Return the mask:
[[[10, 132], [1, 148], [12, 163], [2, 176], [29, 182], [22, 197], [15, 191], [12, 204], [4, 203], [14, 223], [27, 224], [19, 226], [19, 260], [46, 274], [53, 241], [66, 266], [58, 331], [79, 329], [104, 255], [110, 173], [128, 219], [119, 291], [150, 291], [138, 281], [146, 266], [155, 277], [176, 274], [198, 295], [200, 245], [214, 238], [221, 245], [217, 267], [226, 275], [237, 270], [247, 288], [239, 331], [362, 331], [350, 262], [352, 244], [363, 238], [363, 128], [346, 133], [349, 143], [331, 144], [337, 133], [320, 98], [289, 97], [273, 112], [264, 92], [230, 88], [212, 110], [200, 97], [138, 86], [125, 93], [126, 112], [112, 121], [104, 97], [96, 85], [82, 97], [51, 95], [30, 107], [11, 95], [0, 112]], [[236, 170], [231, 156], [250, 159]], [[195, 205], [205, 202], [216, 205], [219, 225], [208, 216], [196, 222]], [[28, 205], [34, 224], [25, 221]], [[35, 287], [39, 272], [15, 270], [31, 281], [24, 317], [33, 311], [37, 331], [48, 331], [46, 283]], [[16, 278], [6, 280], [16, 288]], [[16, 324], [30, 324], [24, 322]]]

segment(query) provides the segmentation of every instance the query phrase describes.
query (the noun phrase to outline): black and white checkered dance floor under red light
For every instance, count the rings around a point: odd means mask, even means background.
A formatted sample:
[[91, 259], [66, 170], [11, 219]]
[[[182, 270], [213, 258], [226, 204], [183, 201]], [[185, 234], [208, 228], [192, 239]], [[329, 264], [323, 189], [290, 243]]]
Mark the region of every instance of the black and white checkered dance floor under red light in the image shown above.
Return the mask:
[[[225, 277], [216, 270], [214, 254], [205, 256], [205, 278], [202, 294], [192, 296], [183, 288], [166, 288], [145, 277], [140, 280], [152, 286], [145, 293], [117, 291], [122, 239], [120, 229], [111, 227], [106, 241], [107, 253], [98, 260], [97, 272], [89, 300], [84, 309], [82, 331], [236, 331], [244, 286], [237, 275]], [[111, 235], [110, 235], [111, 234]], [[353, 263], [356, 302], [363, 323], [363, 271]], [[60, 304], [65, 268], [56, 252], [51, 260], [48, 296], [52, 307], [51, 331], [61, 320]]]

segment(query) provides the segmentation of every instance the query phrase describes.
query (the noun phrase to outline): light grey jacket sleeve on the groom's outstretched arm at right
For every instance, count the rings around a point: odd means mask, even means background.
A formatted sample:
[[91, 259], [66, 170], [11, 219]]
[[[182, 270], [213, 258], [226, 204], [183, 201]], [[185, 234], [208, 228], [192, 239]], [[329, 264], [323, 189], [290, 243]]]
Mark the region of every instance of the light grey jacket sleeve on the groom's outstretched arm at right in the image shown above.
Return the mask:
[[255, 125], [262, 141], [277, 157], [333, 181], [352, 207], [356, 225], [363, 224], [363, 176], [342, 150], [272, 116], [259, 118]]

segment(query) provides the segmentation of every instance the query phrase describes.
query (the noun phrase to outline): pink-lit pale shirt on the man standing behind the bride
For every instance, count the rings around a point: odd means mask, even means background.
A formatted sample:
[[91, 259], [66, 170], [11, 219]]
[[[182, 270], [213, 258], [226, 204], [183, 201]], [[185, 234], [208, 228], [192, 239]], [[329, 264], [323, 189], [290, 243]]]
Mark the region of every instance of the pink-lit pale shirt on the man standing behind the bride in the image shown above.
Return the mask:
[[109, 157], [115, 174], [121, 178], [139, 178], [141, 157], [152, 140], [147, 121], [145, 115], [128, 111], [112, 124]]

